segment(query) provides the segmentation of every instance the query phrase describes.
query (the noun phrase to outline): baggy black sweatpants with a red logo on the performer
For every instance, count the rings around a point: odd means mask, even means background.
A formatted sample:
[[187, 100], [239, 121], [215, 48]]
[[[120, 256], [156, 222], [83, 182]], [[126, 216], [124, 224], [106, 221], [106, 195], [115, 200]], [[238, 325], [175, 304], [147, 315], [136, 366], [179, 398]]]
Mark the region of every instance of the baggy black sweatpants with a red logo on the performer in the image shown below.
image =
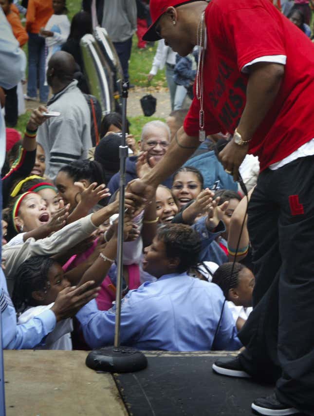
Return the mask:
[[248, 209], [256, 285], [240, 361], [314, 415], [314, 156], [259, 174]]

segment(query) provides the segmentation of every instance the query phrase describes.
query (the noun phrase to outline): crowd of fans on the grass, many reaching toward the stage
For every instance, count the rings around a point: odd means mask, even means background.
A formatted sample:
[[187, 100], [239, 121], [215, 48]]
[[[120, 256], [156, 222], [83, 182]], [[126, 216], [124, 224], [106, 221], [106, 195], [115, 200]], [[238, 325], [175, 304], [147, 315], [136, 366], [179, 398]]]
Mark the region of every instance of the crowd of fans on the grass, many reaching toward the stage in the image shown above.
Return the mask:
[[[92, 33], [91, 5], [84, 1], [84, 10], [70, 24], [65, 0], [14, 3], [0, 0], [4, 12], [0, 13], [0, 56], [7, 65], [7, 71], [0, 70], [0, 85], [6, 95], [7, 124], [15, 126], [18, 120], [17, 84], [25, 79], [25, 58], [18, 46], [27, 41], [26, 99], [37, 99], [39, 89], [41, 104], [32, 111], [22, 138], [12, 129], [6, 134], [1, 181], [3, 346], [90, 349], [110, 345], [122, 118], [119, 113], [103, 117], [101, 140], [94, 142], [92, 117], [82, 94], [88, 92], [86, 80], [75, 79], [77, 72], [84, 73], [79, 41]], [[100, 3], [96, 2], [98, 21], [109, 33], [112, 26], [113, 44], [129, 81], [131, 39], [136, 30], [140, 38], [149, 24], [147, 4], [114, 2], [117, 8], [129, 4], [128, 26], [122, 13], [115, 18], [114, 7], [107, 11], [109, 2], [102, 7]], [[141, 4], [136, 8], [136, 3]], [[309, 4], [302, 3], [302, 10], [300, 3], [289, 10], [289, 17], [311, 36], [304, 12]], [[25, 28], [20, 13], [25, 14]], [[125, 31], [122, 38], [118, 22]], [[141, 41], [138, 46], [146, 47]], [[128, 126], [127, 183], [159, 163], [183, 125], [186, 111], [176, 103], [182, 104], [183, 95], [193, 94], [195, 77], [195, 57], [184, 59], [159, 41], [149, 79], [166, 65], [174, 111], [166, 123], [148, 122], [138, 143]], [[184, 91], [180, 93], [177, 85]], [[52, 111], [60, 114], [44, 115]], [[149, 204], [127, 187], [122, 344], [172, 351], [241, 347], [237, 333], [250, 314], [254, 288], [247, 204], [259, 162], [249, 155], [241, 166], [249, 191], [244, 195], [215, 155], [217, 141], [227, 138], [207, 137], [185, 166], [158, 187]]]

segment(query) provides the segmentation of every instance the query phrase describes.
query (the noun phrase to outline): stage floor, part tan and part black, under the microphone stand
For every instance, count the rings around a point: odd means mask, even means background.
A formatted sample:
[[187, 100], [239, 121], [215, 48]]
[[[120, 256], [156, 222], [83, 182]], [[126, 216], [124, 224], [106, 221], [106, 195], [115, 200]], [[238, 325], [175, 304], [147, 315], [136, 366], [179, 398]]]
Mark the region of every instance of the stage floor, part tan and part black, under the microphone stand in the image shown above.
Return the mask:
[[112, 376], [86, 367], [85, 351], [4, 351], [7, 416], [246, 416], [273, 390], [212, 372], [235, 353], [145, 354], [147, 369]]

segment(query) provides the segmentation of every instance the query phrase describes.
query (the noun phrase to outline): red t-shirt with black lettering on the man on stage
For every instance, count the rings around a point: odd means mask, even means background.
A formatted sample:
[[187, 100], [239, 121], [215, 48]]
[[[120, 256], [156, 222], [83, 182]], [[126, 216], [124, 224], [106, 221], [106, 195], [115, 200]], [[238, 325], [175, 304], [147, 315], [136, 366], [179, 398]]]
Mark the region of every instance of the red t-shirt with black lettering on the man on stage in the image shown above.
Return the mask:
[[[252, 137], [249, 153], [260, 170], [314, 138], [314, 45], [269, 0], [212, 0], [205, 11], [204, 112], [207, 134], [233, 133], [245, 106], [253, 59], [285, 55], [285, 74], [275, 102]], [[185, 132], [198, 136], [199, 101], [194, 98]]]

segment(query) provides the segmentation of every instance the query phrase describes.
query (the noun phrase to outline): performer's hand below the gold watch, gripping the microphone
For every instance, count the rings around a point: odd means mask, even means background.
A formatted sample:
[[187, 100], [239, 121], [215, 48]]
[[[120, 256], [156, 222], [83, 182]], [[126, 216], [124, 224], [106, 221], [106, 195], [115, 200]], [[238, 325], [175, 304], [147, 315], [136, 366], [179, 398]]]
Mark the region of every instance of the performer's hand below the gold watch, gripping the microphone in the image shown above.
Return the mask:
[[218, 155], [222, 162], [223, 169], [231, 172], [230, 175], [233, 175], [235, 181], [239, 180], [239, 167], [243, 162], [248, 149], [248, 144], [239, 146], [232, 139]]

